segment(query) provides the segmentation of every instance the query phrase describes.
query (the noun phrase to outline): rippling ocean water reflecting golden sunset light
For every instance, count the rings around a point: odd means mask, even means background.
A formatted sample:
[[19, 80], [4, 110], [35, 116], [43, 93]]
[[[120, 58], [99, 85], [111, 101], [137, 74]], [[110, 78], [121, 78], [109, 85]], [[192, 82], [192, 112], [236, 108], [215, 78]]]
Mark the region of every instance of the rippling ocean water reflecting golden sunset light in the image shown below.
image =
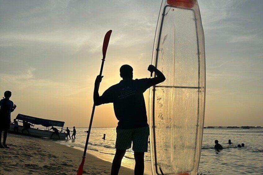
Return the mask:
[[[76, 139], [55, 141], [70, 147], [84, 148], [87, 128], [76, 128]], [[103, 134], [106, 140], [103, 140]], [[229, 145], [228, 140], [233, 144]], [[98, 157], [112, 161], [115, 153], [116, 128], [92, 128], [88, 149]], [[214, 150], [214, 141], [219, 140], [223, 150]], [[244, 143], [245, 147], [237, 145]], [[217, 174], [263, 174], [263, 129], [204, 129], [202, 153], [198, 173]], [[150, 147], [145, 153], [145, 162], [150, 164]], [[132, 149], [127, 150], [122, 165], [132, 168], [134, 156]]]

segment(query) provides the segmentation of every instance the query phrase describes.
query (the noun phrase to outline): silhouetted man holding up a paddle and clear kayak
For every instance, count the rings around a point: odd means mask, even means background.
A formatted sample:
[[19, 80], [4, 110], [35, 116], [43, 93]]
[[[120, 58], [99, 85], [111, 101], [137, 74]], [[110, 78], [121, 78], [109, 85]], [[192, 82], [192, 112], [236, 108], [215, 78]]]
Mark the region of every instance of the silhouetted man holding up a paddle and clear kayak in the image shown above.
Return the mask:
[[135, 158], [134, 173], [144, 173], [144, 152], [148, 151], [149, 125], [143, 93], [149, 87], [165, 81], [163, 73], [153, 65], [149, 65], [148, 70], [155, 72], [156, 77], [133, 80], [133, 68], [127, 64], [121, 66], [120, 77], [123, 80], [109, 87], [101, 96], [98, 86], [103, 76], [98, 75], [95, 80], [94, 104], [98, 106], [113, 103], [115, 116], [119, 120], [111, 175], [118, 174], [123, 156], [126, 150], [131, 148], [131, 142]]

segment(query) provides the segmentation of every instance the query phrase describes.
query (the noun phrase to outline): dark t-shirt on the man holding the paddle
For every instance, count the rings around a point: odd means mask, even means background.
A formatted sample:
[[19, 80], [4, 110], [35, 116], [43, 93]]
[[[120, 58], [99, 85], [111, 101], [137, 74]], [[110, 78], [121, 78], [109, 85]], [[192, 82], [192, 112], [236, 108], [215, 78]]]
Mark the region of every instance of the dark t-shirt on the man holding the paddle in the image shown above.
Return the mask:
[[107, 89], [100, 100], [102, 104], [113, 103], [118, 129], [149, 126], [143, 93], [154, 85], [150, 78], [122, 80]]

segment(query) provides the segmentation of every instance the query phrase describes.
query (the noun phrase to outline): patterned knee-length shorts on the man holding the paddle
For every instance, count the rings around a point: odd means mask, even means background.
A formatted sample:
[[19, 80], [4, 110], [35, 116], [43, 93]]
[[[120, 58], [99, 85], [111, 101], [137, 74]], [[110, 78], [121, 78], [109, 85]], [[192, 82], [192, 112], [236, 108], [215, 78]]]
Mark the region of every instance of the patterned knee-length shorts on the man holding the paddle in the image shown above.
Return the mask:
[[148, 151], [149, 126], [134, 129], [116, 129], [117, 137], [115, 148], [127, 150], [131, 148], [134, 152]]

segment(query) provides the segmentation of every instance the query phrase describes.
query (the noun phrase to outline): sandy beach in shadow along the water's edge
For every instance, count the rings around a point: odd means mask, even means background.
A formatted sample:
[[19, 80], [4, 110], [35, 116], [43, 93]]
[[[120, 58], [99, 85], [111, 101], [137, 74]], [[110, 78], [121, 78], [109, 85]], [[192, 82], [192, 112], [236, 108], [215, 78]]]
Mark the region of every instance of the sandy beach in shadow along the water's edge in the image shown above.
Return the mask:
[[[0, 174], [60, 174], [75, 175], [83, 151], [54, 143], [48, 139], [8, 133], [11, 149], [0, 149]], [[110, 174], [111, 162], [87, 153], [83, 174]], [[121, 167], [119, 174], [134, 174]]]

